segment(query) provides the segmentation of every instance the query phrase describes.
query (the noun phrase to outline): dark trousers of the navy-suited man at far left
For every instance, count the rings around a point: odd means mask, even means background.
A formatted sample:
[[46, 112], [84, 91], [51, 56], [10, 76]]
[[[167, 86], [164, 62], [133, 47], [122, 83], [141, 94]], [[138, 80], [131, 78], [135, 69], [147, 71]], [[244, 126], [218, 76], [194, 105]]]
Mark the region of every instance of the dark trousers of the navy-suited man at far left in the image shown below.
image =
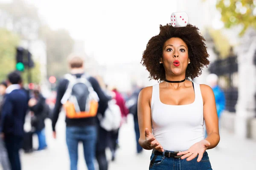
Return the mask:
[[19, 150], [23, 138], [15, 135], [5, 135], [4, 141], [12, 170], [21, 170]]

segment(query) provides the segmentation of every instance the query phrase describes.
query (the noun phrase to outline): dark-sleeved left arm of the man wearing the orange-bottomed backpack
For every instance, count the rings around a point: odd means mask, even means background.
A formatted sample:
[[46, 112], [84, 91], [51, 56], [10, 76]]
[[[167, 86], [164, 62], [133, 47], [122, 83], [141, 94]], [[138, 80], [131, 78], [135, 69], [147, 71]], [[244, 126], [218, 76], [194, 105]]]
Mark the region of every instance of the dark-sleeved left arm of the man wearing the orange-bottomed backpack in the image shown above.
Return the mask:
[[55, 107], [54, 107], [53, 113], [52, 113], [52, 130], [53, 130], [53, 132], [55, 132], [55, 125], [58, 121], [58, 116], [59, 116], [59, 113], [60, 113], [61, 107], [62, 107], [61, 99], [66, 91], [67, 84], [68, 84], [67, 79], [61, 80], [58, 84], [56, 103], [55, 103]]

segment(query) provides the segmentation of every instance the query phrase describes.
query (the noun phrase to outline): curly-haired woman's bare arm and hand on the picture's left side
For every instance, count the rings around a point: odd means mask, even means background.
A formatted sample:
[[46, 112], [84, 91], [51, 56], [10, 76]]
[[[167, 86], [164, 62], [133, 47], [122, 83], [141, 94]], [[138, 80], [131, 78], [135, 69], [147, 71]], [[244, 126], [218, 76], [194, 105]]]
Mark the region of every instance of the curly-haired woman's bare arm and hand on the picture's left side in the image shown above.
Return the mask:
[[154, 138], [151, 126], [151, 95], [152, 86], [141, 90], [138, 98], [138, 121], [140, 128], [139, 144], [145, 150], [156, 149], [163, 152], [163, 147]]

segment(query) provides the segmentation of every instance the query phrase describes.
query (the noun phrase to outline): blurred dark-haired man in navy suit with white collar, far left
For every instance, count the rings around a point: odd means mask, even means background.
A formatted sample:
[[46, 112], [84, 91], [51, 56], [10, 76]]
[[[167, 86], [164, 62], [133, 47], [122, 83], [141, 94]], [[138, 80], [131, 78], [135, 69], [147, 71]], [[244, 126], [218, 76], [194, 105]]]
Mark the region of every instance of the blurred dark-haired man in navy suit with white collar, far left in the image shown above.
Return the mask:
[[19, 150], [22, 147], [29, 96], [20, 88], [22, 79], [19, 72], [11, 72], [7, 77], [8, 87], [1, 110], [0, 133], [4, 135], [12, 170], [20, 170]]

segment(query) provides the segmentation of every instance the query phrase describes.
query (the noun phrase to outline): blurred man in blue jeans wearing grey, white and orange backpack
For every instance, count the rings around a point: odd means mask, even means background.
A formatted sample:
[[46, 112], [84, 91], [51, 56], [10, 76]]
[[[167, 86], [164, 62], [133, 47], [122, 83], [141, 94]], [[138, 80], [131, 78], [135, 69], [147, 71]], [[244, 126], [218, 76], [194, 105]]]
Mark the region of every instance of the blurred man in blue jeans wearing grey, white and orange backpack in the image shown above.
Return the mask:
[[84, 158], [88, 170], [95, 170], [98, 112], [104, 114], [109, 98], [102, 92], [98, 81], [84, 72], [84, 61], [80, 56], [69, 58], [70, 73], [59, 81], [56, 104], [52, 115], [53, 137], [61, 106], [66, 111], [66, 141], [70, 156], [70, 170], [77, 170], [78, 143], [84, 147]]

